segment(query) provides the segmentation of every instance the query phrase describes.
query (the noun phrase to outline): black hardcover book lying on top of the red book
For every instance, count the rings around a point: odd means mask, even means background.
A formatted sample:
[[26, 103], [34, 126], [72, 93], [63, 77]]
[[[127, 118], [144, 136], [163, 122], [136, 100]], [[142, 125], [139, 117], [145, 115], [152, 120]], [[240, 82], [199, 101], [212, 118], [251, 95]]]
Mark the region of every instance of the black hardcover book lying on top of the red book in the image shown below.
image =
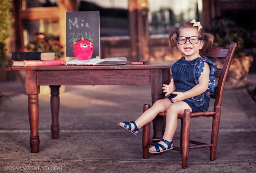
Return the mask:
[[53, 60], [55, 52], [12, 52], [11, 60]]

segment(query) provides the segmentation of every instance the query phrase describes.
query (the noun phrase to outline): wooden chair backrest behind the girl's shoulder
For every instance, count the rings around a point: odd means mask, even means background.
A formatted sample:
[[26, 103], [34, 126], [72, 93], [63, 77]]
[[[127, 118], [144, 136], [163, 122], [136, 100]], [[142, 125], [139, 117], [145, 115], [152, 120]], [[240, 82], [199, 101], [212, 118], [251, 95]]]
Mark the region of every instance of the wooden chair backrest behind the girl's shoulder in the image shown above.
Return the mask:
[[217, 71], [214, 73], [215, 78], [219, 78], [216, 95], [213, 96], [213, 98], [215, 98], [214, 106], [221, 106], [222, 104], [222, 95], [223, 95], [224, 85], [228, 75], [229, 67], [231, 65], [231, 62], [235, 53], [235, 49], [236, 49], [236, 43], [232, 42], [228, 49], [225, 49], [219, 46], [213, 46], [207, 52], [200, 51], [201, 56], [206, 56], [209, 58], [210, 57], [225, 58], [222, 69], [218, 68]]

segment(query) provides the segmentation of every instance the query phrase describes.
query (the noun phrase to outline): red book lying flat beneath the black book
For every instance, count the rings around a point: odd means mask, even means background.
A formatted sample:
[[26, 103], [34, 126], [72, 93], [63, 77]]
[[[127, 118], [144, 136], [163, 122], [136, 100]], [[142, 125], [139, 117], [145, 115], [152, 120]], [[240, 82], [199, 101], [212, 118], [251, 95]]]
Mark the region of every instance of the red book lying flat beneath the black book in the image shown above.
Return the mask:
[[12, 66], [56, 66], [65, 64], [63, 59], [12, 61]]

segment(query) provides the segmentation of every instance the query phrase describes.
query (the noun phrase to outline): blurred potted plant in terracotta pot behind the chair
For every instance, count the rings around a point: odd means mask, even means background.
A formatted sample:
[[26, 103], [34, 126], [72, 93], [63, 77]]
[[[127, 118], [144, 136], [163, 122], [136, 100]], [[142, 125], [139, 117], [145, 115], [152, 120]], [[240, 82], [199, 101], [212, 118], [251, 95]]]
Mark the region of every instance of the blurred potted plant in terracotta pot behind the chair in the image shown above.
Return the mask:
[[[246, 38], [246, 31], [237, 26], [228, 19], [216, 19], [212, 23], [210, 31], [215, 37], [215, 46], [228, 48], [231, 42], [236, 42], [237, 47], [229, 69], [226, 80], [227, 88], [241, 88], [245, 87], [249, 68], [253, 61], [252, 55], [247, 55], [244, 47], [244, 40]], [[222, 62], [215, 59], [215, 62], [221, 66]]]

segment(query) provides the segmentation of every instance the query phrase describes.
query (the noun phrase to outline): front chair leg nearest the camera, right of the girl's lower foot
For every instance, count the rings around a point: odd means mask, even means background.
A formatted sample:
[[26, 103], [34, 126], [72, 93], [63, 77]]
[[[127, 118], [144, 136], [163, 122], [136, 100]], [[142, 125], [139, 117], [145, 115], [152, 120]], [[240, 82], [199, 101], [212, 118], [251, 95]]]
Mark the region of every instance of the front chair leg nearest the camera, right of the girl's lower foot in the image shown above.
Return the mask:
[[182, 122], [182, 168], [187, 168], [188, 156], [189, 156], [189, 140], [190, 140], [190, 111], [184, 110], [183, 122]]

